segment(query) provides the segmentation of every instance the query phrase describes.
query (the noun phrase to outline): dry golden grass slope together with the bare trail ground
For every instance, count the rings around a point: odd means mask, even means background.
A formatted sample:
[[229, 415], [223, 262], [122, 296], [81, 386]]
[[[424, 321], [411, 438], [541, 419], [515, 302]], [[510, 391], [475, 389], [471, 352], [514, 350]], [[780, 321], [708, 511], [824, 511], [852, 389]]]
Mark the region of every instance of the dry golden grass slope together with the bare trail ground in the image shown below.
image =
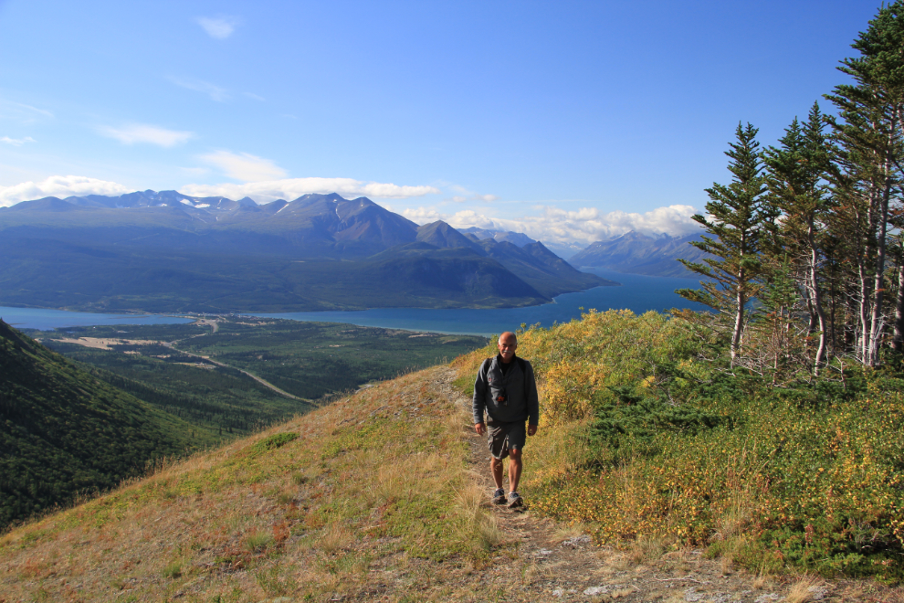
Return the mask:
[[[454, 376], [399, 377], [5, 534], [0, 601], [863, 600], [855, 583], [752, 577], [656, 542], [598, 548], [490, 508]], [[531, 439], [533, 477], [562, 435]]]

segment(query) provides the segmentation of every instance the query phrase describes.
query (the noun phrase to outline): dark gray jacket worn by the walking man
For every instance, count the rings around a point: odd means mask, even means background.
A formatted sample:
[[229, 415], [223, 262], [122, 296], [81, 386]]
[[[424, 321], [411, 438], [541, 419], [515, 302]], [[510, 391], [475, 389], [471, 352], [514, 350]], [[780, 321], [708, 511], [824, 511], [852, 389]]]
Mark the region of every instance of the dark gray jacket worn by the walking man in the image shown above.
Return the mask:
[[[493, 420], [503, 423], [527, 419], [531, 425], [540, 421], [540, 400], [537, 397], [537, 383], [533, 378], [533, 367], [527, 360], [511, 359], [505, 376], [502, 375], [502, 357], [488, 358], [480, 365], [474, 381], [474, 423], [483, 423], [483, 412], [487, 411]], [[489, 367], [487, 364], [489, 363]], [[508, 404], [497, 402], [499, 394], [508, 395]]]

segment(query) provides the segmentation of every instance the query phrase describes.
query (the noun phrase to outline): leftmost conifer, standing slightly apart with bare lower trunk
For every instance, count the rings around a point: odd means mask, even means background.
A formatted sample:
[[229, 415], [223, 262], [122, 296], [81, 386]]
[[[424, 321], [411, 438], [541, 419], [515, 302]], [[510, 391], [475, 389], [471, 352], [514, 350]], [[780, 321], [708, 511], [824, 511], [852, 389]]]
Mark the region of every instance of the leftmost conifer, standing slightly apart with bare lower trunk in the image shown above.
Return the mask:
[[702, 262], [679, 260], [708, 280], [700, 281], [702, 289], [679, 289], [678, 295], [731, 318], [732, 366], [741, 349], [747, 303], [759, 289], [762, 237], [774, 217], [764, 195], [766, 186], [757, 132], [750, 123], [746, 127], [738, 124], [737, 142], [731, 143], [731, 150], [725, 152], [731, 158], [731, 184], [713, 183], [706, 189], [710, 196], [706, 204], [709, 217], [701, 214], [692, 217], [711, 237], [704, 235], [702, 240], [690, 244], [712, 257]]

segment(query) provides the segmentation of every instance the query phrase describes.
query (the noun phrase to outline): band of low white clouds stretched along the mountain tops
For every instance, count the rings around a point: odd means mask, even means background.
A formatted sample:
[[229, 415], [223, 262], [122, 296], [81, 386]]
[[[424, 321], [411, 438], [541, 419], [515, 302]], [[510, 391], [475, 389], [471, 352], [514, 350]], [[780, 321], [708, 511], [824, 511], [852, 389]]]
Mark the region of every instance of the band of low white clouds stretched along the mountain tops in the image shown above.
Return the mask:
[[[296, 199], [309, 193], [327, 195], [338, 193], [346, 198], [366, 196], [373, 200], [411, 199], [426, 195], [440, 195], [442, 191], [430, 185], [395, 185], [363, 182], [354, 178], [280, 178], [285, 172], [278, 165], [247, 153], [216, 152], [203, 157], [205, 163], [215, 165], [238, 180], [268, 177], [266, 180], [241, 184], [185, 185], [178, 188], [189, 196], [225, 196], [230, 199], [250, 197], [259, 204], [277, 199]], [[86, 176], [51, 176], [41, 182], [25, 182], [0, 186], [0, 207], [13, 206], [20, 201], [45, 196], [107, 195], [131, 193], [132, 188], [107, 180]], [[495, 198], [495, 197], [494, 197]], [[391, 206], [388, 206], [392, 209]], [[420, 206], [398, 211], [413, 222], [424, 225], [443, 220], [456, 228], [480, 227], [491, 230], [522, 232], [544, 243], [583, 249], [600, 240], [619, 237], [631, 230], [645, 234], [688, 235], [699, 230], [690, 219], [697, 213], [692, 206], [657, 207], [644, 213], [613, 211], [604, 213], [595, 207], [565, 210], [556, 206], [535, 206], [536, 215], [506, 218], [480, 213], [475, 209], [461, 209], [443, 213], [436, 206]], [[397, 210], [394, 210], [397, 211]]]

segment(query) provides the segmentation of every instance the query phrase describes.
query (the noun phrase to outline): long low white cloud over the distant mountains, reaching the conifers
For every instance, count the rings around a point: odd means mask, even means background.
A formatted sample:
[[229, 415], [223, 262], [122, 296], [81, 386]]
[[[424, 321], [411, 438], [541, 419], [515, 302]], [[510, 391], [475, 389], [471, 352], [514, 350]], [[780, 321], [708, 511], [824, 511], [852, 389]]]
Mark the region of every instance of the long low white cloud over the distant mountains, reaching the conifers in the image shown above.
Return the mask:
[[692, 206], [657, 207], [643, 214], [624, 211], [602, 213], [595, 207], [582, 207], [576, 211], [551, 206], [541, 206], [540, 209], [540, 216], [514, 219], [488, 217], [472, 209], [455, 214], [441, 214], [430, 207], [405, 209], [402, 214], [418, 224], [444, 220], [457, 228], [480, 227], [523, 232], [531, 238], [553, 245], [577, 243], [587, 246], [595, 241], [624, 235], [631, 230], [672, 236], [687, 235], [699, 230], [699, 225], [690, 219], [697, 213]]

